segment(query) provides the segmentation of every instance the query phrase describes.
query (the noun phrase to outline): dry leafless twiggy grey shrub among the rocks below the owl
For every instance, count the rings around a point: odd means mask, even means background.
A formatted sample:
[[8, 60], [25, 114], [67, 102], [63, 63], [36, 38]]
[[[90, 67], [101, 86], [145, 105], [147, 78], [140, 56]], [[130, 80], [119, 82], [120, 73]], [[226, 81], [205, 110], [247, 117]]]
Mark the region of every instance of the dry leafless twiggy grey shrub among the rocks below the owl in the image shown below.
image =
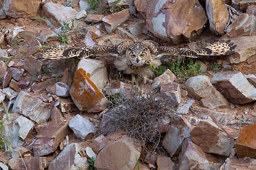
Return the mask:
[[152, 143], [153, 148], [158, 147], [161, 132], [155, 127], [165, 125], [170, 116], [175, 114], [171, 99], [159, 99], [158, 89], [151, 91], [131, 89], [132, 93], [122, 95], [121, 102], [112, 108], [102, 118], [101, 130], [103, 134], [111, 135], [116, 131], [137, 139], [145, 149], [146, 143]]

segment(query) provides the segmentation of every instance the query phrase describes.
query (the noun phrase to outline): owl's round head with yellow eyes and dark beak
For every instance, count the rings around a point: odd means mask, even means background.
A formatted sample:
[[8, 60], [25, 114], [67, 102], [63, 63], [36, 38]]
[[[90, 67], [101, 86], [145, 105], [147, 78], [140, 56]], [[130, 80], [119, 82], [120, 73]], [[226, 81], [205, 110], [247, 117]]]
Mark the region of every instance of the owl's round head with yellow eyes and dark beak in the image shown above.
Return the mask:
[[126, 51], [126, 58], [134, 66], [143, 65], [150, 58], [150, 55], [150, 50], [142, 43], [134, 43]]

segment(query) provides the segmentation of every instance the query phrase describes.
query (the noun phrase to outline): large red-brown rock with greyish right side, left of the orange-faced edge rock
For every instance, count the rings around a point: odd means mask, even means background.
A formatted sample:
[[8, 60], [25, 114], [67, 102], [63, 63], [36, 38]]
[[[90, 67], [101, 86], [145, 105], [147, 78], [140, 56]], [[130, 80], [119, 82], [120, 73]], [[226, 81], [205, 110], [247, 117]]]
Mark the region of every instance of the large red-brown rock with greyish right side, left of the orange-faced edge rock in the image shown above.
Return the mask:
[[206, 153], [229, 156], [234, 146], [234, 139], [211, 120], [201, 120], [190, 136]]

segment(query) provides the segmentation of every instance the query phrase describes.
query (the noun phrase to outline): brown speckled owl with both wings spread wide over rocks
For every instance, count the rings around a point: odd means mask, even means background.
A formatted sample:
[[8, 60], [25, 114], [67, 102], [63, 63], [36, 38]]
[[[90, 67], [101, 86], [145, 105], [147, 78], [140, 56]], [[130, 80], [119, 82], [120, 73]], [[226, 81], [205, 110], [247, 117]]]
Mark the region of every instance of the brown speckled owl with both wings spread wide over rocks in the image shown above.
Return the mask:
[[216, 40], [212, 45], [189, 50], [186, 48], [157, 47], [149, 41], [133, 42], [124, 41], [119, 45], [96, 45], [83, 48], [49, 48], [48, 51], [38, 55], [41, 61], [50, 59], [64, 59], [70, 57], [86, 58], [92, 55], [113, 54], [113, 65], [118, 71], [131, 74], [131, 81], [135, 82], [135, 76], [139, 75], [144, 82], [154, 75], [149, 64], [157, 68], [163, 59], [172, 56], [185, 56], [198, 58], [199, 55], [227, 55], [233, 54], [236, 45], [230, 40]]

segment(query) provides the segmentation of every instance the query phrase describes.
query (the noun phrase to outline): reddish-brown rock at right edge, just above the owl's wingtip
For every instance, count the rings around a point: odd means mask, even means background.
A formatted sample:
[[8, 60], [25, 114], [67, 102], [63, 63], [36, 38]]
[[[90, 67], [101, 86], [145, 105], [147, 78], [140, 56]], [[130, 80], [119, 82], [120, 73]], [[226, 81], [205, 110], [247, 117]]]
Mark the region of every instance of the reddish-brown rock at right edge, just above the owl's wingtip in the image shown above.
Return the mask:
[[254, 15], [242, 13], [227, 28], [230, 37], [248, 36], [256, 30], [256, 18]]

